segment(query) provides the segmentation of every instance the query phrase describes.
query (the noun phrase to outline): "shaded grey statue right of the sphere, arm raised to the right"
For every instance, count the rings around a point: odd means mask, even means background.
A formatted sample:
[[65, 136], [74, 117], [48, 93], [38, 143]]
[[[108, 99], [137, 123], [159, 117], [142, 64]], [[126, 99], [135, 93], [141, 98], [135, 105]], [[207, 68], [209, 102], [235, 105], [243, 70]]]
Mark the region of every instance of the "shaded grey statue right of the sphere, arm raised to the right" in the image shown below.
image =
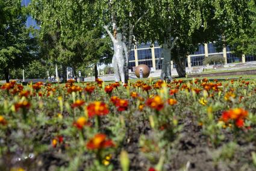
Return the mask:
[[[171, 60], [171, 51], [175, 45], [175, 42], [178, 40], [178, 37], [176, 37], [172, 43], [170, 43], [170, 40], [164, 41], [162, 45], [162, 51], [161, 51], [161, 58], [163, 58], [162, 61], [162, 69], [161, 69], [161, 79], [164, 80], [165, 78], [168, 78], [169, 81], [172, 81], [172, 73], [170, 68], [170, 60]], [[160, 58], [158, 59], [158, 63], [160, 61]]]

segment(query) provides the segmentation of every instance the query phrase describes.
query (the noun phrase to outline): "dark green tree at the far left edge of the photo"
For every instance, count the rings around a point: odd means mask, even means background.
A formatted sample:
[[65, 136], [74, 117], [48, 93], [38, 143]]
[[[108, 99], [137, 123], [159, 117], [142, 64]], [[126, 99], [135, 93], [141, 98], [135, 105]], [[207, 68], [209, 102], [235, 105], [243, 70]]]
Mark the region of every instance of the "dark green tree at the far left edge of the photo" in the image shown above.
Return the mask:
[[[27, 8], [20, 1], [1, 2], [3, 11], [8, 11], [0, 32], [0, 67], [5, 80], [9, 82], [10, 69], [17, 69], [28, 64], [36, 53], [36, 41], [30, 37], [26, 28]], [[1, 16], [2, 17], [2, 16]]]

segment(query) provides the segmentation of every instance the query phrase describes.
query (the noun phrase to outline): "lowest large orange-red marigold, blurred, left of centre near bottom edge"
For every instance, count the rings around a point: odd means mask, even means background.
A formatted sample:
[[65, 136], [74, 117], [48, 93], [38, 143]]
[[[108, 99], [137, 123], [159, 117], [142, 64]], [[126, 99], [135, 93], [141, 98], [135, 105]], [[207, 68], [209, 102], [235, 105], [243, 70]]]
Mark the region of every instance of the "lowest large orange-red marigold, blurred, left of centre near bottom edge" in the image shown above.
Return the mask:
[[114, 143], [112, 140], [107, 139], [107, 135], [105, 134], [96, 134], [93, 138], [91, 138], [87, 143], [87, 149], [105, 149], [114, 147]]

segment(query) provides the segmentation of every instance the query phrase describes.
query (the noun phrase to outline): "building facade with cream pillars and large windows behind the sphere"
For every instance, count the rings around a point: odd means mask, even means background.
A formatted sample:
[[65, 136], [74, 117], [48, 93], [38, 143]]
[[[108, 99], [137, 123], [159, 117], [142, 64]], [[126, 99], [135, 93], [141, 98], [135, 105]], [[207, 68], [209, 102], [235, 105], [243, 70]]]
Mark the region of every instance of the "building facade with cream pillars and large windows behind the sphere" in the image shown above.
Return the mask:
[[[232, 54], [230, 48], [227, 46], [222, 49], [222, 51], [217, 51], [215, 43], [205, 43], [204, 45], [199, 45], [198, 51], [193, 52], [193, 54], [188, 55], [186, 61], [186, 67], [198, 67], [202, 66], [202, 62], [205, 57], [210, 55], [221, 55], [225, 58], [225, 63], [246, 63], [248, 61], [256, 61], [255, 55], [242, 55], [242, 57]], [[140, 46], [134, 45], [131, 50], [129, 57], [128, 67], [131, 71], [139, 64], [146, 64], [152, 70], [161, 69], [161, 47], [158, 43], [151, 45], [150, 43], [142, 43]], [[175, 68], [173, 62], [171, 61], [171, 68]]]

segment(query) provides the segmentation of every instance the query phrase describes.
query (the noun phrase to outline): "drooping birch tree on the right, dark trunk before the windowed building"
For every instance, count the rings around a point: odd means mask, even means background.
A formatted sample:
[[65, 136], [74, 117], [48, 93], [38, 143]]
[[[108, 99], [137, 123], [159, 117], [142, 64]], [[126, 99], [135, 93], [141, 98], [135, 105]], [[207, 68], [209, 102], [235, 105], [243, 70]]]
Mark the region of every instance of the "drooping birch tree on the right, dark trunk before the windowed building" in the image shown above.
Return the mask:
[[[147, 1], [150, 12], [140, 26], [142, 33], [136, 39], [139, 42], [157, 41], [178, 37], [172, 51], [172, 60], [180, 77], [186, 76], [187, 55], [196, 51], [198, 43], [214, 40], [223, 46], [223, 39], [231, 34], [239, 35], [240, 29], [247, 23], [248, 1], [187, 1], [156, 0]], [[236, 9], [236, 10], [234, 10]], [[224, 11], [227, 12], [224, 12]], [[239, 20], [236, 19], [239, 18]], [[245, 23], [241, 23], [241, 22]], [[172, 43], [172, 41], [170, 41]], [[170, 45], [169, 45], [170, 46]]]

